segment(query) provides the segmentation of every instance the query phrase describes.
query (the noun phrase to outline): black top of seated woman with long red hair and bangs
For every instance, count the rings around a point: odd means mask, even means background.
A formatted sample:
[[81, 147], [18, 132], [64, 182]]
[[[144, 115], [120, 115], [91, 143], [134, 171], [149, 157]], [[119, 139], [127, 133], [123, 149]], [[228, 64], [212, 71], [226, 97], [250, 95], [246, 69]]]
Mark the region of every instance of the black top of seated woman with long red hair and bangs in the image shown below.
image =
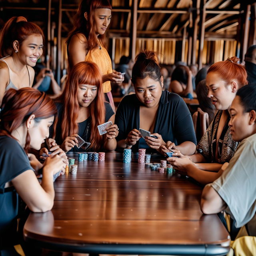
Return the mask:
[[[115, 113], [112, 110], [110, 104], [108, 102], [104, 103], [105, 105], [105, 122], [108, 122], [111, 116], [113, 116]], [[56, 143], [58, 145], [62, 144], [62, 140], [60, 137], [61, 134], [61, 122], [62, 122], [62, 114], [63, 114], [63, 104], [62, 103], [56, 103], [56, 107], [58, 109], [58, 124], [56, 127]], [[85, 140], [86, 142], [90, 142], [90, 136], [91, 136], [91, 126], [90, 126], [91, 118], [87, 118], [81, 123], [78, 123], [78, 135]], [[50, 134], [52, 134], [52, 128], [50, 129]], [[70, 134], [71, 135], [71, 134]], [[51, 137], [51, 135], [50, 135]], [[88, 150], [92, 150], [91, 148], [88, 148]], [[82, 148], [77, 148], [74, 146], [69, 152], [84, 152], [84, 149]]]

